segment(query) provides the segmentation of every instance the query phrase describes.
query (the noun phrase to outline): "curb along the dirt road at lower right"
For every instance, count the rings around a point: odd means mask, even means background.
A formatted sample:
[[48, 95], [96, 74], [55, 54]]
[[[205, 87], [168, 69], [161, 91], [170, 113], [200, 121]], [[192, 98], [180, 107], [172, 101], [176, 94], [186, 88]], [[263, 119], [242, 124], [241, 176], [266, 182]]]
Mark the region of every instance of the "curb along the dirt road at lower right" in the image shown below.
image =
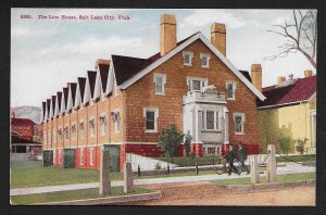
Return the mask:
[[218, 185], [218, 187], [227, 188], [230, 190], [263, 190], [263, 189], [273, 189], [273, 188], [283, 188], [283, 187], [296, 187], [302, 185], [315, 185], [316, 180], [298, 180], [292, 182], [273, 182], [273, 184], [265, 184], [265, 185]]

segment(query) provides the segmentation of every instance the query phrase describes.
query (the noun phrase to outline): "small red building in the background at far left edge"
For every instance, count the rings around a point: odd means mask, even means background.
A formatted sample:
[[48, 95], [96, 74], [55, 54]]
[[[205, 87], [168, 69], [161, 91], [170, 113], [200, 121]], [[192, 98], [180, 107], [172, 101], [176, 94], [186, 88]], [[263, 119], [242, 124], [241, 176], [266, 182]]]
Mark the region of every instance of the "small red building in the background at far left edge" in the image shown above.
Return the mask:
[[16, 118], [15, 113], [12, 113], [11, 130], [17, 132], [21, 138], [33, 140], [35, 125], [29, 118]]

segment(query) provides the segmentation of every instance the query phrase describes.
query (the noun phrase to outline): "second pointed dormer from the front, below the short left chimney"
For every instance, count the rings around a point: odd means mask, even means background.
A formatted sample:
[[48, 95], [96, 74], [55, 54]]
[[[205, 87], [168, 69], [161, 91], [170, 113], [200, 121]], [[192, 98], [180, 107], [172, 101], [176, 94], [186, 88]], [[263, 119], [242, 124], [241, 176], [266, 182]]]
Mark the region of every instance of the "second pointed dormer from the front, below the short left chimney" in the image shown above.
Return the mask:
[[109, 75], [109, 67], [110, 61], [109, 60], [97, 60], [96, 62], [96, 71], [97, 71], [97, 78], [95, 85], [95, 94], [93, 100], [104, 99], [106, 83], [108, 83], [108, 75]]

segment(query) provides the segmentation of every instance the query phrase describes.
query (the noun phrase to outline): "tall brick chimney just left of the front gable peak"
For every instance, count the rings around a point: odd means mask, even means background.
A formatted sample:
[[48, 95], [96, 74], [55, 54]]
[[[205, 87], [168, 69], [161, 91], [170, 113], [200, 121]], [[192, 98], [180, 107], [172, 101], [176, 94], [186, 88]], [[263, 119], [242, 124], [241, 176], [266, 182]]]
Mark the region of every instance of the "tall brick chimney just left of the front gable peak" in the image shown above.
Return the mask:
[[161, 56], [165, 55], [176, 47], [176, 21], [172, 14], [161, 16], [160, 51]]

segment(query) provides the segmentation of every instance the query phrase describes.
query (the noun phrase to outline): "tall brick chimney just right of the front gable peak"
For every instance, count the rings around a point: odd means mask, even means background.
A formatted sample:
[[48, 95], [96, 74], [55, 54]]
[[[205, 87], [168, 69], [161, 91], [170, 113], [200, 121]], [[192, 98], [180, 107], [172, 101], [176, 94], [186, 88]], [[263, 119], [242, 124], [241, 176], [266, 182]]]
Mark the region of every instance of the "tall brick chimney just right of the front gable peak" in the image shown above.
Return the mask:
[[214, 23], [211, 26], [211, 42], [226, 56], [226, 29], [225, 24]]

